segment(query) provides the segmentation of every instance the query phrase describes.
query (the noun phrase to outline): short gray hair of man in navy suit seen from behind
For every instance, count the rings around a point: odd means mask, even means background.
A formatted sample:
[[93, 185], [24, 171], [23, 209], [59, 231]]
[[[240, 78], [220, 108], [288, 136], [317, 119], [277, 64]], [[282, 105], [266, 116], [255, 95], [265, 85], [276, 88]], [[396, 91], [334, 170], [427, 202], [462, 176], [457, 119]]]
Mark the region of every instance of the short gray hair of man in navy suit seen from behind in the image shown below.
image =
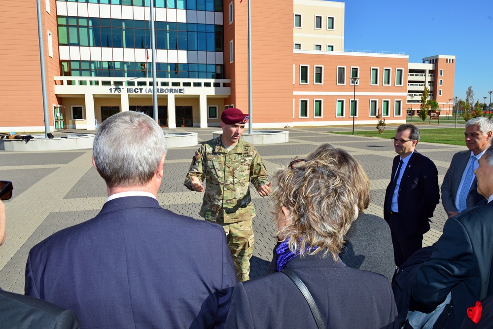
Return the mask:
[[148, 115], [124, 111], [107, 118], [94, 138], [96, 168], [108, 187], [148, 183], [166, 153], [163, 130]]

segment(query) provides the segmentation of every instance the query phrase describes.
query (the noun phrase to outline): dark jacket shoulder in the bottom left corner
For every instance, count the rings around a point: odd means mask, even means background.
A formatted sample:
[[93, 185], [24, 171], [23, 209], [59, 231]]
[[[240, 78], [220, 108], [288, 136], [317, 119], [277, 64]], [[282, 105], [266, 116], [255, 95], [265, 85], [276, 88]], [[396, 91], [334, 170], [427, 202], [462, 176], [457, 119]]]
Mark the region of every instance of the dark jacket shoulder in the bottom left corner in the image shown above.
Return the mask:
[[0, 329], [79, 329], [77, 316], [47, 301], [0, 289]]

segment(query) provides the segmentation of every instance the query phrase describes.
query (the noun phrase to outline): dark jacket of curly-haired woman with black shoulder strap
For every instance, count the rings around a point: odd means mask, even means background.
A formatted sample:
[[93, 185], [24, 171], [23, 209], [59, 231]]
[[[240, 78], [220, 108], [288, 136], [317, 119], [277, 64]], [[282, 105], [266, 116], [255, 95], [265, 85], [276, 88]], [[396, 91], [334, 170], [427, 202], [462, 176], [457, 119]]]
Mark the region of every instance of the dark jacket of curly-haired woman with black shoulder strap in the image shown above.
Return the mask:
[[[397, 328], [397, 310], [387, 279], [319, 255], [289, 260], [311, 292], [326, 328]], [[317, 328], [298, 287], [284, 273], [240, 283], [225, 328]]]

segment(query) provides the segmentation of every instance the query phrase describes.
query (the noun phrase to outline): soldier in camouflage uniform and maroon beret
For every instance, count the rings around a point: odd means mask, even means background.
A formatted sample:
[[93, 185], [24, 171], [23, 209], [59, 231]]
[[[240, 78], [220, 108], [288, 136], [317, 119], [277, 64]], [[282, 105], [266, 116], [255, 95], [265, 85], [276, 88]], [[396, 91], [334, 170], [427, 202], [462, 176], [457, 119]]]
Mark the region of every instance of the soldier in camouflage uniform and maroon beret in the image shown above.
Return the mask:
[[222, 135], [195, 152], [184, 183], [188, 189], [202, 192], [202, 182], [207, 179], [200, 216], [223, 226], [240, 282], [249, 279], [253, 254], [251, 219], [255, 209], [250, 182], [261, 196], [269, 195], [272, 186], [255, 147], [240, 139], [247, 120], [241, 110], [224, 110]]

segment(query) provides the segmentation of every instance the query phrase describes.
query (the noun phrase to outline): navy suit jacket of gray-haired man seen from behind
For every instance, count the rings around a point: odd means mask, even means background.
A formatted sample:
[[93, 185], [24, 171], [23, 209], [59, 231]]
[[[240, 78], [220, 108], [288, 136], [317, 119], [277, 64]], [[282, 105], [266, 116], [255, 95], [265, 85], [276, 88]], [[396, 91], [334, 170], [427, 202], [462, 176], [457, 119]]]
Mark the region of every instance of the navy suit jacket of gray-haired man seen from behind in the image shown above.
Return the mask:
[[236, 283], [221, 226], [131, 196], [33, 247], [25, 290], [82, 328], [209, 328], [224, 324]]

